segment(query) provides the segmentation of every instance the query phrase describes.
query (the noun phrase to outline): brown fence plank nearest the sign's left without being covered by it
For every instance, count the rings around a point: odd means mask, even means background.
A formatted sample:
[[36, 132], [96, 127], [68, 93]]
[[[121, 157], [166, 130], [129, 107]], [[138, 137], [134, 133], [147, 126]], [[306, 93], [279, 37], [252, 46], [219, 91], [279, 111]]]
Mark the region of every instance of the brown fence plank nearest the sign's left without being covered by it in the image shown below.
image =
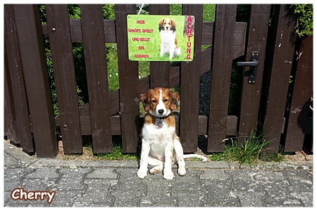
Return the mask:
[[89, 92], [92, 149], [94, 153], [109, 153], [112, 151], [111, 113], [102, 5], [82, 4], [80, 12]]

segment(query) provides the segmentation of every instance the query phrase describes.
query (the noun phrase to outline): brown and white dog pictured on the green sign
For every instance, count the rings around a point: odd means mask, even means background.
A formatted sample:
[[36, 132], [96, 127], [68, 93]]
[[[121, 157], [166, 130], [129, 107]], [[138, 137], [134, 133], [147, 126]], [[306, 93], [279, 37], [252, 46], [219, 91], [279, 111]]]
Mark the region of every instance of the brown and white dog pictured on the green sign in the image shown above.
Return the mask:
[[178, 47], [178, 39], [176, 39], [176, 23], [171, 18], [162, 18], [159, 21], [159, 32], [161, 33], [161, 53], [162, 57], [165, 53], [169, 54], [169, 59], [173, 56], [180, 56], [180, 48]]

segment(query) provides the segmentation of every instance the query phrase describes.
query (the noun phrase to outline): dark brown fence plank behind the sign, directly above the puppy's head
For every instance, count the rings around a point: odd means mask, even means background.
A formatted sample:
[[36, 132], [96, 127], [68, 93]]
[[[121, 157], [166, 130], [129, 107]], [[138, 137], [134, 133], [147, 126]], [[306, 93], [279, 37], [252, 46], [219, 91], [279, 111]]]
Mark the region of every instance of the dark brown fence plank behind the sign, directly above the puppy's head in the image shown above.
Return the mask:
[[[150, 15], [169, 15], [169, 4], [150, 4]], [[159, 26], [159, 20], [158, 20]], [[170, 88], [170, 63], [169, 62], [150, 62], [150, 88], [165, 87]]]

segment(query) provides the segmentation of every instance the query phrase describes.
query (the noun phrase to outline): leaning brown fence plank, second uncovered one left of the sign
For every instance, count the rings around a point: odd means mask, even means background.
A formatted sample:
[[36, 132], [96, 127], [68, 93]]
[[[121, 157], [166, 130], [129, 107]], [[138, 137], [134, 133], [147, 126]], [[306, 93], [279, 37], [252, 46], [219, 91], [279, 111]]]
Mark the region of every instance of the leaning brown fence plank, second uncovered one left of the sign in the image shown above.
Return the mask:
[[82, 153], [75, 68], [67, 4], [46, 5], [64, 153]]

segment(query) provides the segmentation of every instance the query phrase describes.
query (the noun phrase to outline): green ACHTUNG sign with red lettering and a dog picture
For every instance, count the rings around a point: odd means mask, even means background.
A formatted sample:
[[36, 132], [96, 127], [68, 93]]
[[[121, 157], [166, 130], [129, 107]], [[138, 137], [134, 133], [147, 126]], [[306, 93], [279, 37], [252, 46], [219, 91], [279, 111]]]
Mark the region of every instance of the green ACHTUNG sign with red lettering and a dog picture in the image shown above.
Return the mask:
[[128, 15], [130, 60], [192, 61], [193, 15]]

